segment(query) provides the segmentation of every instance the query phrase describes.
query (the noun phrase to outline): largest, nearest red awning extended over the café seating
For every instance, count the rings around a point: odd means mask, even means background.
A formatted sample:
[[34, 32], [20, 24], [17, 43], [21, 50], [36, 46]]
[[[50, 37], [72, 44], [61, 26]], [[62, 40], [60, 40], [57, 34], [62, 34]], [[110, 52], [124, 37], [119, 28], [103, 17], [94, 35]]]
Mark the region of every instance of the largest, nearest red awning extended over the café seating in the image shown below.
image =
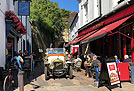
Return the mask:
[[[103, 27], [102, 29], [100, 29], [99, 31], [94, 33], [93, 35], [91, 35], [91, 36], [87, 37], [86, 39], [84, 39], [83, 41], [88, 40], [88, 39], [92, 39], [92, 38], [94, 38], [93, 40], [95, 40], [95, 39], [100, 38], [101, 35], [104, 36], [107, 32], [110, 32], [111, 30], [117, 28], [119, 25], [121, 25], [123, 22], [125, 22], [127, 19], [129, 19], [131, 16], [128, 16], [128, 17], [126, 17], [124, 19], [121, 19], [121, 20], [119, 20], [117, 22], [114, 22], [112, 24], [109, 24], [109, 25]], [[103, 37], [103, 36], [101, 36], [101, 37]], [[98, 38], [95, 38], [95, 37], [98, 37]]]

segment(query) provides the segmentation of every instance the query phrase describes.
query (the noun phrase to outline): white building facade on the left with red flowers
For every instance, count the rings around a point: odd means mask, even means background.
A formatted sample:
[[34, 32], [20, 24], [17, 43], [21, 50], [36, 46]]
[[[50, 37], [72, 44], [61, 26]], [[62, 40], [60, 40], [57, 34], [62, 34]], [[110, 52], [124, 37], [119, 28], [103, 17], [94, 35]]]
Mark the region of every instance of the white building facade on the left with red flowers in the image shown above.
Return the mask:
[[18, 16], [17, 0], [0, 0], [0, 24], [0, 67], [5, 69], [14, 51], [31, 53], [31, 26], [29, 16]]

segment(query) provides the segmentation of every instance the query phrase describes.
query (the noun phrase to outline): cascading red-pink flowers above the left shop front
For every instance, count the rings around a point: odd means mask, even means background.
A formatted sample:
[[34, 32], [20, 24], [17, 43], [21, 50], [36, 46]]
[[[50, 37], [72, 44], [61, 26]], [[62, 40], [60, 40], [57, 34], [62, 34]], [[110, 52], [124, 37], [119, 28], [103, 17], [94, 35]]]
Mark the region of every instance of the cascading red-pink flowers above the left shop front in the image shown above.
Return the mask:
[[27, 30], [23, 26], [23, 24], [20, 22], [20, 19], [15, 15], [13, 11], [6, 11], [5, 12], [5, 19], [6, 20], [12, 20], [11, 25], [15, 28], [15, 30], [19, 34], [26, 34]]

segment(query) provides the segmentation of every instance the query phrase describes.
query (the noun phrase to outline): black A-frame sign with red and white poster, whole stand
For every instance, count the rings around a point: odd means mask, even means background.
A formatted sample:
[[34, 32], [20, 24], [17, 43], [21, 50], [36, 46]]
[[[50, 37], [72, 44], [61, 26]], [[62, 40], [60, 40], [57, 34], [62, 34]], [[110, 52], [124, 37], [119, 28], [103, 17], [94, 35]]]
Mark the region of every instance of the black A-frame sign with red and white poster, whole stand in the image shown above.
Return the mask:
[[104, 84], [108, 84], [110, 91], [112, 85], [120, 84], [120, 88], [122, 87], [114, 58], [105, 58], [102, 60], [98, 88]]

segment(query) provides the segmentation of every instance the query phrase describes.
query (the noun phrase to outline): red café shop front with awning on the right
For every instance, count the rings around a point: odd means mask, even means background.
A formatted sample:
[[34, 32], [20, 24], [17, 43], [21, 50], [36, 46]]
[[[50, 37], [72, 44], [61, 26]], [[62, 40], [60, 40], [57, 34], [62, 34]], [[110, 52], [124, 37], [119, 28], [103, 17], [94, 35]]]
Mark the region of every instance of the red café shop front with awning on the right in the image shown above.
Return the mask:
[[134, 62], [134, 4], [98, 21], [87, 29], [79, 31], [79, 37], [89, 35], [80, 38], [79, 42], [75, 41], [75, 44], [80, 46], [89, 44], [90, 51], [96, 55], [101, 57], [117, 55], [121, 61], [127, 54]]

